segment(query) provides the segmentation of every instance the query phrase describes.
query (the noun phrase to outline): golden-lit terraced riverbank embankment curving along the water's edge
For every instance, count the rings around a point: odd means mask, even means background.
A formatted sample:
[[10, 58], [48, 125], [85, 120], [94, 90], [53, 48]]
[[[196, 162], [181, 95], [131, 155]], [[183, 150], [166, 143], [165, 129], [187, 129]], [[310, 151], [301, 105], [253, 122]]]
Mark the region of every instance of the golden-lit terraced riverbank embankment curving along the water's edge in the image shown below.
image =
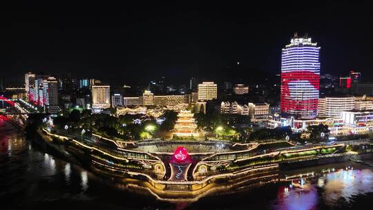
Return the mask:
[[[126, 189], [135, 193], [144, 193], [154, 195], [159, 200], [169, 202], [195, 202], [203, 196], [211, 193], [228, 193], [232, 189], [237, 189], [245, 184], [256, 184], [272, 182], [279, 180], [278, 171], [288, 169], [298, 169], [305, 166], [315, 166], [331, 164], [335, 162], [345, 162], [350, 160], [351, 155], [338, 155], [331, 157], [321, 157], [301, 162], [288, 162], [284, 164], [272, 164], [270, 167], [257, 167], [243, 169], [235, 173], [220, 173], [211, 178], [205, 178], [193, 182], [169, 182], [155, 180], [144, 173], [133, 173], [128, 170], [118, 170], [110, 166], [108, 162], [100, 162], [97, 155], [93, 155], [93, 150], [87, 146], [76, 142], [71, 144], [72, 140], [64, 137], [64, 141], [56, 142], [55, 137], [43, 131], [37, 131], [39, 135], [40, 146], [57, 153], [61, 158], [85, 166], [88, 170], [108, 178], [117, 183], [124, 184]], [[79, 144], [77, 144], [79, 143]], [[95, 158], [96, 157], [96, 158]]]

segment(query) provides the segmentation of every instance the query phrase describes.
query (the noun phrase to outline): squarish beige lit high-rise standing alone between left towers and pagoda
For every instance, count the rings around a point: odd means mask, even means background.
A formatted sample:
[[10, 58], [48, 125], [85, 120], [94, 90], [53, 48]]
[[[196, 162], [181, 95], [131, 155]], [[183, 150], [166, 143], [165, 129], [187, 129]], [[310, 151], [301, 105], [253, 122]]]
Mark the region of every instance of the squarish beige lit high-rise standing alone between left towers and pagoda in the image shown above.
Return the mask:
[[93, 109], [104, 109], [110, 108], [110, 86], [105, 85], [93, 85], [92, 90], [92, 108]]

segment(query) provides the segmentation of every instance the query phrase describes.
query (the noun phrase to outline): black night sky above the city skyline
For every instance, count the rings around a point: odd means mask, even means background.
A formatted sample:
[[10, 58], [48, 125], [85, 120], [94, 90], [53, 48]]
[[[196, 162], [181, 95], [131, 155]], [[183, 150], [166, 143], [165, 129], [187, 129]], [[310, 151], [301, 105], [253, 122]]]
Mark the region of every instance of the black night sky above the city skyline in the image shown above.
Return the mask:
[[322, 74], [354, 69], [373, 79], [373, 10], [364, 1], [46, 2], [0, 8], [3, 49], [9, 48], [0, 67], [8, 81], [28, 71], [117, 84], [162, 75], [174, 81], [275, 75], [294, 32], [308, 32], [321, 46]]

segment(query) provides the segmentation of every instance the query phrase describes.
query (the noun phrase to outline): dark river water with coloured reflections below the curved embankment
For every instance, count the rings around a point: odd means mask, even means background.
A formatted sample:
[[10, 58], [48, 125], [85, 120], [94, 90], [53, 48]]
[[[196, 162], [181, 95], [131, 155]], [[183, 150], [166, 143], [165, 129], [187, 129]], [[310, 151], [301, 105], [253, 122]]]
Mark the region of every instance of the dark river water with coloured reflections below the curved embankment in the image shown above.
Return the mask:
[[[346, 169], [349, 170], [343, 170]], [[367, 209], [373, 171], [345, 162], [285, 174], [334, 169], [307, 181], [264, 184], [239, 193], [209, 195], [192, 204], [160, 202], [132, 193], [108, 178], [44, 153], [23, 133], [0, 121], [0, 209]]]

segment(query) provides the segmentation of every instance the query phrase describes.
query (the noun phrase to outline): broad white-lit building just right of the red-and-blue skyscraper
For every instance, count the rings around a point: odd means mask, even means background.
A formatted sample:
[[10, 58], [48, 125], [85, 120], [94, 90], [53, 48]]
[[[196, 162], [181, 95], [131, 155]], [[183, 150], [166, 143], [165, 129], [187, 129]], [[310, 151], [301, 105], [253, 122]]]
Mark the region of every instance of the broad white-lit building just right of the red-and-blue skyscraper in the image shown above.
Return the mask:
[[354, 97], [324, 97], [318, 99], [318, 116], [341, 117], [342, 111], [354, 109]]

